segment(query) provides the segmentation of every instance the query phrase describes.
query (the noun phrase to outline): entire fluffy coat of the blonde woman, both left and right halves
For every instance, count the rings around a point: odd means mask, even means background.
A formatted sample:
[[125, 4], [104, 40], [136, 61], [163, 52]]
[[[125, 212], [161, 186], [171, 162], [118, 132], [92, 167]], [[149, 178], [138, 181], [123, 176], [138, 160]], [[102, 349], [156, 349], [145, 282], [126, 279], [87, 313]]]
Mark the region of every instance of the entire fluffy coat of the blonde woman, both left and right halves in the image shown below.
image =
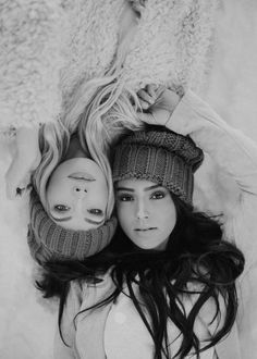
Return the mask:
[[[81, 83], [115, 62], [127, 0], [7, 0], [0, 3], [0, 131], [53, 121]], [[164, 83], [203, 90], [217, 0], [138, 3], [122, 79], [136, 90]], [[119, 59], [118, 63], [119, 63]]]

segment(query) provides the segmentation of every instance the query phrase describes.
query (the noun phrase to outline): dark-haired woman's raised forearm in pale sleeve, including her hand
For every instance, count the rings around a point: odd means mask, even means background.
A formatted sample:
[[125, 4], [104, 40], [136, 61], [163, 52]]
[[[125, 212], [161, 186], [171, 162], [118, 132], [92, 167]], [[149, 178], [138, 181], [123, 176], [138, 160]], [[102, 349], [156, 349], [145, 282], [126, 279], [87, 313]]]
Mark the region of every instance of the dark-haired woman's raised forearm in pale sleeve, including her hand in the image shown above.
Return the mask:
[[257, 144], [227, 124], [207, 102], [191, 90], [180, 99], [155, 85], [139, 90], [138, 97], [142, 108], [148, 110], [139, 114], [140, 120], [189, 135], [242, 191], [257, 194]]

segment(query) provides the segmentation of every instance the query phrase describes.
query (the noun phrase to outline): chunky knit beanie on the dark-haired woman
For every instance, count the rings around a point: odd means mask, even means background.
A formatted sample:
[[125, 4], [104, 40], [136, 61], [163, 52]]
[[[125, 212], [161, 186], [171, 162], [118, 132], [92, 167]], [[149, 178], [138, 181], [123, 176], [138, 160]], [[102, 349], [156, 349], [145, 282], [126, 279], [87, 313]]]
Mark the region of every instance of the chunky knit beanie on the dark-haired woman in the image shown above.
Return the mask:
[[204, 152], [189, 136], [158, 127], [124, 137], [113, 150], [113, 182], [147, 180], [192, 205], [194, 172]]

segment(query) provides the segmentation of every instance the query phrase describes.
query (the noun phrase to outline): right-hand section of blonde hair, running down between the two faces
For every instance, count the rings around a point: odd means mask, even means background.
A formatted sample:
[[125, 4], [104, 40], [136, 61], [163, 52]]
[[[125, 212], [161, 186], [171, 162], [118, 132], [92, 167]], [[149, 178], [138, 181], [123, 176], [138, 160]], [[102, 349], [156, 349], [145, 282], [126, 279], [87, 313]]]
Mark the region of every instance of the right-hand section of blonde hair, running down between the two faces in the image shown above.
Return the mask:
[[106, 174], [109, 188], [108, 215], [114, 206], [110, 149], [121, 135], [142, 128], [143, 124], [136, 114], [137, 102], [135, 92], [111, 78], [97, 89], [83, 113], [84, 119], [79, 121], [81, 144], [87, 146], [93, 160]]

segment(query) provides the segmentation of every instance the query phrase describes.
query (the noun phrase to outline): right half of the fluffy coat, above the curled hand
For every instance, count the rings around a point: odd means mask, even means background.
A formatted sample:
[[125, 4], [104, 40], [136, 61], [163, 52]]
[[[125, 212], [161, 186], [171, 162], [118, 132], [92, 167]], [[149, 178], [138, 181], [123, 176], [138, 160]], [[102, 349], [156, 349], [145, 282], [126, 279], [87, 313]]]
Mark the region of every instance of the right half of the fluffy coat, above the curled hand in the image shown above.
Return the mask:
[[149, 83], [201, 92], [210, 65], [217, 1], [148, 0], [125, 59], [132, 89]]

